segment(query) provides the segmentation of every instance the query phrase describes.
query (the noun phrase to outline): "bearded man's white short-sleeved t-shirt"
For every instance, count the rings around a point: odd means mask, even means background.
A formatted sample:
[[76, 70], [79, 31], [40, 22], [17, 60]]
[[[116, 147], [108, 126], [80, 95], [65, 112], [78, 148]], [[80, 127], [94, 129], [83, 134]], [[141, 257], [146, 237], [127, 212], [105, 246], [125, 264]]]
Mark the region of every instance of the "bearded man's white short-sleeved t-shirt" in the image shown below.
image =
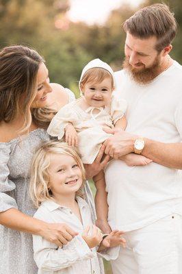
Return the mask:
[[[164, 143], [182, 142], [182, 67], [176, 61], [150, 84], [140, 85], [127, 71], [115, 73], [116, 94], [127, 100], [127, 132]], [[181, 171], [156, 162], [127, 166], [121, 160], [105, 169], [108, 221], [130, 231], [172, 213], [182, 215]]]

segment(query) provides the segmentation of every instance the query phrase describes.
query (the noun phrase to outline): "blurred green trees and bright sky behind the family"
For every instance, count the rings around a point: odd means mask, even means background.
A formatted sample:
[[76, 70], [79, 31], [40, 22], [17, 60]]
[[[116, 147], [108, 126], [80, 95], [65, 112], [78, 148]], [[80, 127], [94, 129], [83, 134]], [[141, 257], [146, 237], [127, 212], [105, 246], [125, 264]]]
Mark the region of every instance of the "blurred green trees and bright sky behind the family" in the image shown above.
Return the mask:
[[[182, 63], [182, 3], [163, 2], [179, 24], [171, 55]], [[153, 3], [161, 1], [0, 0], [0, 47], [34, 47], [47, 62], [51, 82], [70, 88], [78, 97], [81, 70], [93, 58], [101, 58], [114, 71], [121, 69], [125, 44], [122, 23], [135, 10]], [[112, 273], [106, 262], [105, 273]]]

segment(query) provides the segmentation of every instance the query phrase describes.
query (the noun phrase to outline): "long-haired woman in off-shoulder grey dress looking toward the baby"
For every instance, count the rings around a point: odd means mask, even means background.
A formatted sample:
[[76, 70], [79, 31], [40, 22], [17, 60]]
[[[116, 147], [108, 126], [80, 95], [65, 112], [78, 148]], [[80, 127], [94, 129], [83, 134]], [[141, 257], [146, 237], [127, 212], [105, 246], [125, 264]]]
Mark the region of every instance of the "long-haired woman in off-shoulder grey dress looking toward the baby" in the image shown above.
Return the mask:
[[[74, 99], [70, 90], [49, 84], [41, 56], [28, 47], [0, 51], [0, 273], [35, 274], [31, 234], [62, 246], [77, 233], [65, 224], [44, 223], [31, 216], [29, 168], [55, 112]], [[104, 148], [103, 148], [104, 150]], [[94, 174], [103, 153], [93, 165]], [[90, 173], [90, 171], [88, 171]], [[87, 186], [87, 197], [92, 197]]]

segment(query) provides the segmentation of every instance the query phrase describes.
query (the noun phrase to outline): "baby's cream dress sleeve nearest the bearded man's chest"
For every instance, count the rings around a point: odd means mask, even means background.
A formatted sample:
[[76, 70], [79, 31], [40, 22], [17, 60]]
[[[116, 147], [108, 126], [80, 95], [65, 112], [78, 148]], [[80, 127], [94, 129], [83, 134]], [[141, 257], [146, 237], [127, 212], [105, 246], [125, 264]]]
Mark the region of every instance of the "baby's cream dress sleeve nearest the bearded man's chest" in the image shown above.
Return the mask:
[[111, 115], [112, 121], [115, 125], [116, 122], [124, 116], [127, 110], [127, 101], [125, 99], [118, 99], [116, 97], [112, 97], [111, 103]]

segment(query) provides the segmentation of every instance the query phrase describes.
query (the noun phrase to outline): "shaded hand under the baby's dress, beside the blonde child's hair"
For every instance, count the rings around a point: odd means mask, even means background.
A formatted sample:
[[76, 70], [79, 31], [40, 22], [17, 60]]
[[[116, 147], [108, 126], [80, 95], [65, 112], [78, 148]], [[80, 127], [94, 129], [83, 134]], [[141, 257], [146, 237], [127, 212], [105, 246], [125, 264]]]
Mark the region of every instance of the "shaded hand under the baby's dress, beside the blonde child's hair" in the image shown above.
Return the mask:
[[95, 175], [97, 175], [107, 164], [109, 161], [109, 155], [104, 155], [105, 145], [102, 145], [98, 155], [96, 156], [94, 162], [92, 164], [84, 164], [86, 169], [86, 178], [92, 179]]

